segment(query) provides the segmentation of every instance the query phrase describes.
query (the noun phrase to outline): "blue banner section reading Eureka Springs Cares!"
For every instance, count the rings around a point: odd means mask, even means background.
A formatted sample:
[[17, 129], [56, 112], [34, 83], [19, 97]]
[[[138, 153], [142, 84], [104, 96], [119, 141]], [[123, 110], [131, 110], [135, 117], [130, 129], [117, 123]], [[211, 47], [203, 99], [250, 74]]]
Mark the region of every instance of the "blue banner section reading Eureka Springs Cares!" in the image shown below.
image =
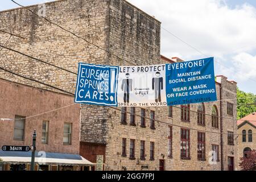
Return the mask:
[[75, 102], [117, 106], [118, 68], [79, 63]]

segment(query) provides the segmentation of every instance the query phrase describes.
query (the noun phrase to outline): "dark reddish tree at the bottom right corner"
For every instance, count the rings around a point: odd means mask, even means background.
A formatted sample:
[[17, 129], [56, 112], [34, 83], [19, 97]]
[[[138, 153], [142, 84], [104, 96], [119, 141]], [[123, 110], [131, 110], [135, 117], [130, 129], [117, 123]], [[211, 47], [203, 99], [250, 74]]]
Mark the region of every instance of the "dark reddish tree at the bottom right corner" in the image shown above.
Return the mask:
[[255, 171], [256, 170], [256, 151], [249, 151], [246, 152], [246, 156], [240, 158], [241, 163], [239, 166], [242, 168], [243, 171]]

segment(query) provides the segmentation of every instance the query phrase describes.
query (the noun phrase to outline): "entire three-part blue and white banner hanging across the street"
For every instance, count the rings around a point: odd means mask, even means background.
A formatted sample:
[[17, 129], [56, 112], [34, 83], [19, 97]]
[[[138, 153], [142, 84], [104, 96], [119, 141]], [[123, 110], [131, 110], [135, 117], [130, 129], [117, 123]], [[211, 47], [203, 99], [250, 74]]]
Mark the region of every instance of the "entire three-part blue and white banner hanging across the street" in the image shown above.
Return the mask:
[[216, 100], [213, 57], [123, 67], [79, 63], [76, 103], [129, 107]]

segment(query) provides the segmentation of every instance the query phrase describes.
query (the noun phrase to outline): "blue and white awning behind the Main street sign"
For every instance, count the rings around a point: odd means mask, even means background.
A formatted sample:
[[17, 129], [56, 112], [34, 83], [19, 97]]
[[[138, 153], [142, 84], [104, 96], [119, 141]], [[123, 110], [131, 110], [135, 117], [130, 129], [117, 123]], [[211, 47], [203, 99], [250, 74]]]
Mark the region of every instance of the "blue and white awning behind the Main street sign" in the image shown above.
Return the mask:
[[[29, 164], [31, 163], [31, 151], [16, 152], [0, 150], [0, 164]], [[91, 166], [89, 162], [78, 154], [63, 154], [53, 152], [36, 152], [35, 163], [40, 165], [60, 166]]]

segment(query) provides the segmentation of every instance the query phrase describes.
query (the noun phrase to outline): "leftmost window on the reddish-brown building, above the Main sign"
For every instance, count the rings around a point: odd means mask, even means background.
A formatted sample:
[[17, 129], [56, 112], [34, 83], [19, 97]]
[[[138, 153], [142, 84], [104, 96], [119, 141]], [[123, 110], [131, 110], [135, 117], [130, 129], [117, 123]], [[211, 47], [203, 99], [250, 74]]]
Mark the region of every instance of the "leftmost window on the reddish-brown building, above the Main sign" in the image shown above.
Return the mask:
[[24, 141], [25, 118], [26, 117], [15, 115], [14, 140]]

